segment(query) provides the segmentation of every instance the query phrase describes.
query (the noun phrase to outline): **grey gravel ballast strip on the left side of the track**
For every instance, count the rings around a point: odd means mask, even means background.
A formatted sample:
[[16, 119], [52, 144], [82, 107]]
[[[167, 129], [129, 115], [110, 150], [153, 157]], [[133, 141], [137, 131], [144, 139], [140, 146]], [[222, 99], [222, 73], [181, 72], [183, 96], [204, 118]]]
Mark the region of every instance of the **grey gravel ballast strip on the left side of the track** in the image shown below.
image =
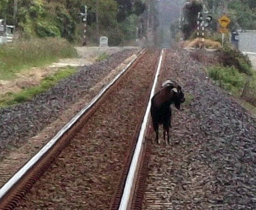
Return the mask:
[[124, 50], [107, 60], [78, 67], [78, 72], [31, 101], [0, 109], [0, 149], [20, 144], [55, 121], [63, 110], [85, 95], [119, 63], [137, 50]]

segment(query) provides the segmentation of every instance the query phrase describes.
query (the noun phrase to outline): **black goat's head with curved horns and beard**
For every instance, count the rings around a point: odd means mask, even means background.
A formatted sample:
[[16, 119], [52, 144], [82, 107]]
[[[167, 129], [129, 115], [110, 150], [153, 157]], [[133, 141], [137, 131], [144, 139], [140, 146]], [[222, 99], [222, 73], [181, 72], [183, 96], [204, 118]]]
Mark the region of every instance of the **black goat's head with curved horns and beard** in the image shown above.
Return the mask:
[[173, 92], [173, 102], [177, 109], [181, 108], [181, 103], [185, 102], [184, 93], [181, 90], [181, 86], [177, 84], [177, 82], [172, 80], [167, 80], [162, 83], [162, 87], [169, 87]]

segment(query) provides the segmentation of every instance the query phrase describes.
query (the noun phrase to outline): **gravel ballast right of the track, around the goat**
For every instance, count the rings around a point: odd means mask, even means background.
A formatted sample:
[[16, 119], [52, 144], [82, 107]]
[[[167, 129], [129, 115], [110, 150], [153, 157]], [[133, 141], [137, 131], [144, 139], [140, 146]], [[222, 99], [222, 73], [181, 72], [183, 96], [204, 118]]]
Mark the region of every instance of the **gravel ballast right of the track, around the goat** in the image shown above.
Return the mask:
[[160, 82], [193, 101], [175, 110], [171, 145], [151, 145], [144, 209], [256, 209], [256, 119], [206, 76], [188, 52], [167, 53]]

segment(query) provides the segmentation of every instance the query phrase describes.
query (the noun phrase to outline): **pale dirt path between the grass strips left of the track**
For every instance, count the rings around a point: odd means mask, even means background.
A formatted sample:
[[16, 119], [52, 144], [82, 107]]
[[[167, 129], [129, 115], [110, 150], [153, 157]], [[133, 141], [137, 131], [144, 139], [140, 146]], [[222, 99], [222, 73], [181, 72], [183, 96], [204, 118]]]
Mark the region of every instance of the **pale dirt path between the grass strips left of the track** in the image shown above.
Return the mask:
[[19, 92], [22, 88], [33, 85], [38, 85], [39, 82], [46, 76], [55, 73], [60, 67], [65, 66], [84, 66], [95, 63], [95, 59], [102, 53], [111, 56], [114, 53], [126, 49], [138, 49], [137, 47], [75, 47], [78, 52], [78, 58], [60, 59], [58, 63], [53, 63], [50, 66], [34, 67], [23, 70], [16, 74], [16, 77], [11, 80], [0, 80], [0, 99], [1, 95], [10, 92]]

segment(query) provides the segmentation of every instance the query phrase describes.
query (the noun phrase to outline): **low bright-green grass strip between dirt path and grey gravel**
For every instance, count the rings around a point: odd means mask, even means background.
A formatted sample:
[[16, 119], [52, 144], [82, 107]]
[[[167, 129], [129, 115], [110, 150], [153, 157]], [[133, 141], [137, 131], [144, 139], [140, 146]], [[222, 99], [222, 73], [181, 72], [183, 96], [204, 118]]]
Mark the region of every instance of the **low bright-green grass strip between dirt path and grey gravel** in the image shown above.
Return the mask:
[[76, 69], [73, 67], [63, 67], [53, 75], [45, 77], [39, 85], [25, 88], [18, 93], [8, 92], [3, 94], [0, 96], [0, 108], [29, 101], [35, 95], [46, 92], [49, 88], [56, 85], [60, 80], [75, 72]]

